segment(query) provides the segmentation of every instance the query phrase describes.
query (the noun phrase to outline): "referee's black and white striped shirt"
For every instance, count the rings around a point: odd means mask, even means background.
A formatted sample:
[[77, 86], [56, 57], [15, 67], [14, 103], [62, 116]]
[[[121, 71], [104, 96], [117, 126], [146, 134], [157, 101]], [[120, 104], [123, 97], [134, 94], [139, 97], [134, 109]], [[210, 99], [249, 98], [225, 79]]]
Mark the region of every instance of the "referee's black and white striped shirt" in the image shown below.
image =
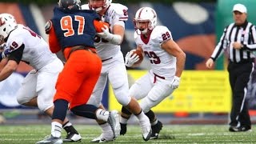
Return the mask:
[[[234, 42], [241, 42], [243, 47], [240, 50], [233, 48]], [[255, 26], [250, 22], [245, 22], [242, 26], [236, 26], [231, 23], [226, 26], [218, 45], [211, 55], [214, 61], [226, 51], [230, 62], [244, 62], [255, 58], [256, 52], [256, 30]]]

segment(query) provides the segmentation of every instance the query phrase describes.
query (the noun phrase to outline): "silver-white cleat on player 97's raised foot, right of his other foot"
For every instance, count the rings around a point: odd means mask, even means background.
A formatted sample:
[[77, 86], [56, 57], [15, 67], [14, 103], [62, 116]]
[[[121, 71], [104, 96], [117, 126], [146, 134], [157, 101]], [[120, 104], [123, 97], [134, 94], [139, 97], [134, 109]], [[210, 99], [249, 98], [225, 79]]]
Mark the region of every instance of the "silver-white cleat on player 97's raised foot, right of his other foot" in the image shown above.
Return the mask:
[[120, 123], [119, 123], [119, 115], [117, 110], [111, 110], [110, 116], [107, 119], [107, 122], [110, 124], [111, 130], [113, 131], [114, 138], [117, 138], [120, 134]]

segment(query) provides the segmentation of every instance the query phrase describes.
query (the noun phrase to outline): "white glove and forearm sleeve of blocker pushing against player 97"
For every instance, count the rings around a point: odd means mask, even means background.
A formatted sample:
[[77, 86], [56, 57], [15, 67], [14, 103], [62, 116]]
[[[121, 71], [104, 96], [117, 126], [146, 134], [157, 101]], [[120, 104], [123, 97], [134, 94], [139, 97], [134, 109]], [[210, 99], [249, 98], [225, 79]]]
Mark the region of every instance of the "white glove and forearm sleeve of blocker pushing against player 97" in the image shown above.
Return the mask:
[[102, 33], [97, 33], [97, 35], [113, 43], [114, 45], [120, 45], [122, 42], [121, 35], [111, 34], [109, 28], [106, 25], [104, 25], [104, 27], [105, 28], [102, 27]]

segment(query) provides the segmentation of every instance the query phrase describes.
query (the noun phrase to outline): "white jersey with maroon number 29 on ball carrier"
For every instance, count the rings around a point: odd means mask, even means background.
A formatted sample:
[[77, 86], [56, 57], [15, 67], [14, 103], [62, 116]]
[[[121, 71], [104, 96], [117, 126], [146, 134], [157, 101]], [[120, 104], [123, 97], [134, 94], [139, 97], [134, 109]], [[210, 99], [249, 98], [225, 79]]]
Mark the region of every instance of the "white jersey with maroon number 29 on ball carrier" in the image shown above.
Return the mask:
[[176, 58], [161, 48], [162, 42], [170, 39], [172, 36], [166, 26], [156, 26], [148, 38], [143, 38], [139, 30], [134, 32], [136, 45], [142, 46], [154, 74], [165, 78], [173, 78], [176, 71]]

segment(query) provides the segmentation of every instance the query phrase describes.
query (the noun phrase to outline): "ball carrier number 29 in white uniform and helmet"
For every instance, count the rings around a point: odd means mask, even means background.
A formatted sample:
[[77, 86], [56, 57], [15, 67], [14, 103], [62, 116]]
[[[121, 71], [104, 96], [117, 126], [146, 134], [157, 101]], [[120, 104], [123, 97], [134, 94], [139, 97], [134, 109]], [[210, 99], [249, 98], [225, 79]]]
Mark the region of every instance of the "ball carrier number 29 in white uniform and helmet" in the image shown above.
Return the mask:
[[[156, 118], [151, 108], [157, 106], [178, 88], [186, 54], [174, 42], [166, 26], [157, 26], [157, 14], [152, 8], [140, 8], [135, 14], [134, 24], [136, 28], [134, 40], [150, 59], [151, 70], [134, 82], [129, 94], [136, 99], [142, 99], [140, 106], [151, 122], [151, 138], [158, 138], [162, 130], [162, 122]], [[131, 57], [131, 54], [128, 52], [125, 58], [128, 67], [138, 61], [138, 59], [134, 61], [136, 57], [134, 55]], [[129, 110], [123, 107], [121, 116], [121, 134], [126, 134], [126, 123], [130, 118]]]

